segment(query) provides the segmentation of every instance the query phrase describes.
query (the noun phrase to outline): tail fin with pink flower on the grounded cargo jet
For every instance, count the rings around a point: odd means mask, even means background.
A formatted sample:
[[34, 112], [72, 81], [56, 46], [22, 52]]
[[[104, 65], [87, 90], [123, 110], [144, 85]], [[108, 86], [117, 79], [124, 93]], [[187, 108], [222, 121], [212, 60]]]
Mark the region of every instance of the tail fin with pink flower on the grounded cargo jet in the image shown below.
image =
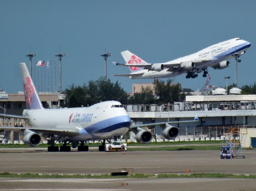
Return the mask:
[[28, 68], [25, 63], [20, 63], [22, 82], [24, 86], [24, 95], [26, 101], [27, 109], [43, 109], [42, 102], [36, 92], [36, 88], [30, 74], [28, 73]]

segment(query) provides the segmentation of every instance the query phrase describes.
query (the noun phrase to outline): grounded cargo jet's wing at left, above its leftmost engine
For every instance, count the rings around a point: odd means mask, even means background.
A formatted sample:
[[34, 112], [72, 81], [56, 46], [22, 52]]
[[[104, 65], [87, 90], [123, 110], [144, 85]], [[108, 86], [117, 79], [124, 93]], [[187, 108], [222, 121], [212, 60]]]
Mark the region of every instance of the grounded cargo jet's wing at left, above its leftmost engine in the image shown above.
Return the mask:
[[34, 131], [35, 133], [49, 134], [49, 135], [62, 135], [68, 137], [74, 137], [79, 135], [79, 129], [76, 128], [55, 128], [55, 129], [42, 129], [42, 128], [33, 128], [33, 127], [0, 127], [0, 130], [6, 131], [22, 131], [25, 129], [29, 129]]

